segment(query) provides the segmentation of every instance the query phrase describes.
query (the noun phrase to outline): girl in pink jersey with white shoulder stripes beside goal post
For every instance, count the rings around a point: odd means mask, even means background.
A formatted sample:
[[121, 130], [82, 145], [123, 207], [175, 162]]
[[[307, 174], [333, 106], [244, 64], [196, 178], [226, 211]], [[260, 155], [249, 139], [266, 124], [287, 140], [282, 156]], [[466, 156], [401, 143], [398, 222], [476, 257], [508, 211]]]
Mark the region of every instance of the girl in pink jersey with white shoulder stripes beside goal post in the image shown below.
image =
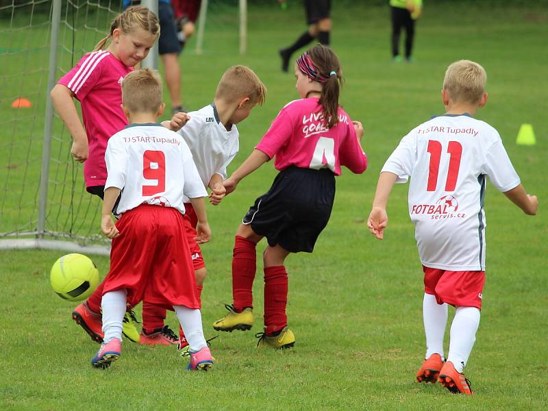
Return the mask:
[[[84, 163], [86, 190], [101, 199], [107, 177], [108, 139], [128, 124], [121, 108], [122, 79], [147, 57], [159, 35], [160, 23], [153, 12], [140, 6], [127, 8], [114, 19], [108, 36], [51, 90], [53, 106], [73, 138], [71, 155], [75, 161]], [[110, 45], [103, 49], [108, 40]], [[73, 97], [80, 102], [83, 125]], [[73, 312], [73, 319], [98, 342], [103, 339], [99, 314], [102, 294], [101, 284]], [[138, 340], [136, 330], [132, 334], [136, 335], [125, 333], [128, 338]]]

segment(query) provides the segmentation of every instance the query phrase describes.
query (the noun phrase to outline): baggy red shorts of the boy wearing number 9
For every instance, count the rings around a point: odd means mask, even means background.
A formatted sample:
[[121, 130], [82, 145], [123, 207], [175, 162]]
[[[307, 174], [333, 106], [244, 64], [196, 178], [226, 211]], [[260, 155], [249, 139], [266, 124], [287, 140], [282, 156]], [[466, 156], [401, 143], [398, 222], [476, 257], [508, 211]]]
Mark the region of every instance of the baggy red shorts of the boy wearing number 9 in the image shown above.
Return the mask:
[[127, 290], [127, 303], [142, 299], [173, 310], [200, 308], [183, 215], [175, 208], [142, 205], [122, 214], [112, 240], [103, 295]]

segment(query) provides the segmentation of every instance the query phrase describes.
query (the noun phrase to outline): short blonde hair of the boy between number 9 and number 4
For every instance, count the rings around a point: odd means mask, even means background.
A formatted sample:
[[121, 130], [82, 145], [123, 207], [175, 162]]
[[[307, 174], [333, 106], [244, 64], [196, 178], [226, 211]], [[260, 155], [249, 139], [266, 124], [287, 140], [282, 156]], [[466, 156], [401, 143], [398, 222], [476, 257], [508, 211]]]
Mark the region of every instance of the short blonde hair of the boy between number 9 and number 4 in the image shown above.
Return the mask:
[[262, 105], [266, 99], [266, 87], [249, 67], [232, 66], [221, 77], [215, 98], [232, 102], [245, 97], [249, 97], [253, 105]]

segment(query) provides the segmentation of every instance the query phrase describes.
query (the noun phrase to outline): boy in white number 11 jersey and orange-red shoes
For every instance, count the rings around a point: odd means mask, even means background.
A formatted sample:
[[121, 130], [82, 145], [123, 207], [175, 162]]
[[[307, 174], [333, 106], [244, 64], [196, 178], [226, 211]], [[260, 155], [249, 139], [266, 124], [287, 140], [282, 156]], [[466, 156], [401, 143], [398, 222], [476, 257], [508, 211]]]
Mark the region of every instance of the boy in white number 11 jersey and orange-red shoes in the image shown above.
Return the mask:
[[[482, 66], [460, 60], [445, 73], [446, 114], [412, 129], [384, 164], [367, 225], [382, 239], [386, 203], [395, 183], [409, 186], [409, 214], [425, 273], [425, 361], [419, 382], [438, 380], [451, 393], [470, 395], [462, 373], [475, 342], [485, 281], [486, 176], [525, 214], [537, 199], [527, 195], [497, 130], [473, 119], [487, 102]], [[456, 307], [449, 355], [444, 362], [447, 304]]]

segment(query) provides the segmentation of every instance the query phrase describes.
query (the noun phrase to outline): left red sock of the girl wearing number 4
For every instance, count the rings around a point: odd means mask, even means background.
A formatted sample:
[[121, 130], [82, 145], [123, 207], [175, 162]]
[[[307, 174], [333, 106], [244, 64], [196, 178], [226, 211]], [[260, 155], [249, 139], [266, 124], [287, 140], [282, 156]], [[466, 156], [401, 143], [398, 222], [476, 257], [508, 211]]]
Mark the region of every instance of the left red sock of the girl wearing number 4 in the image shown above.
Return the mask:
[[236, 236], [232, 254], [232, 297], [234, 309], [241, 312], [253, 307], [253, 279], [257, 269], [256, 244], [247, 238]]

